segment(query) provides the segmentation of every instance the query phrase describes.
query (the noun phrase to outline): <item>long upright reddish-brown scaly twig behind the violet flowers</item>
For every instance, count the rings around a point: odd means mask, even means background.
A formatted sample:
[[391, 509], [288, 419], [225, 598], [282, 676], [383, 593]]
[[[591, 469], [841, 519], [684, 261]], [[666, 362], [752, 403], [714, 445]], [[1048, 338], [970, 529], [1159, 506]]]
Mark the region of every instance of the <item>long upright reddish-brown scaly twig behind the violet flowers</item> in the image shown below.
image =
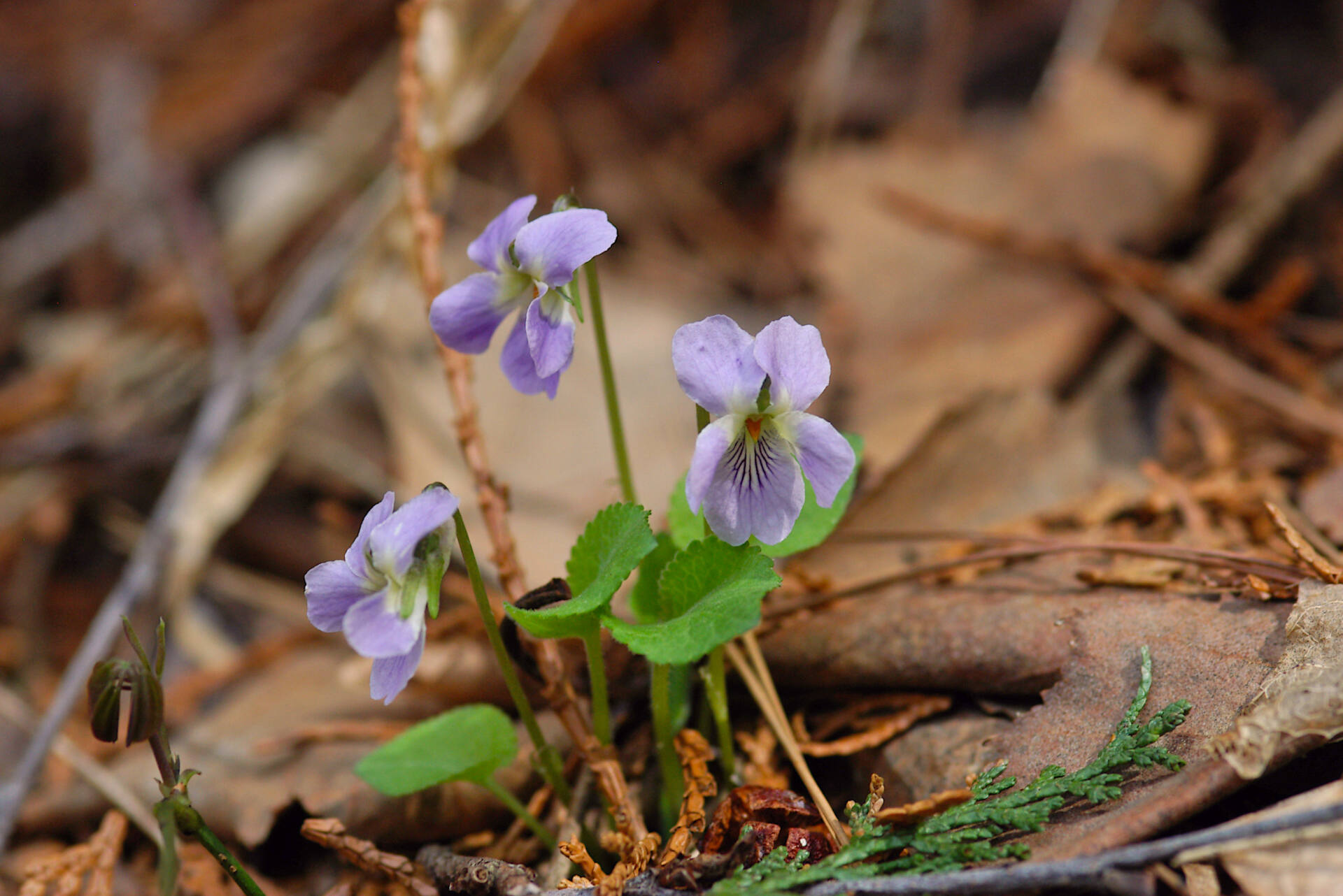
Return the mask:
[[[406, 207], [410, 213], [415, 243], [415, 266], [426, 304], [443, 288], [443, 268], [439, 264], [439, 249], [443, 240], [443, 223], [430, 207], [428, 157], [419, 142], [420, 109], [424, 85], [416, 64], [420, 17], [427, 0], [407, 0], [398, 16], [402, 28], [400, 75], [396, 80], [396, 94], [400, 105], [400, 141], [398, 161], [402, 168], [402, 182]], [[435, 343], [438, 341], [435, 339]], [[492, 559], [498, 570], [500, 583], [509, 600], [517, 601], [526, 593], [522, 567], [517, 561], [517, 549], [508, 522], [508, 491], [500, 486], [492, 472], [489, 455], [485, 451], [485, 437], [481, 433], [478, 405], [471, 389], [471, 361], [459, 351], [438, 343], [439, 359], [447, 377], [453, 405], [457, 408], [454, 428], [467, 468], [475, 482], [475, 498], [485, 518], [485, 528], [493, 546]], [[537, 665], [545, 681], [543, 693], [549, 702], [560, 723], [564, 724], [573, 743], [596, 774], [598, 786], [606, 797], [615, 817], [616, 828], [635, 842], [647, 833], [643, 818], [630, 799], [624, 773], [615, 759], [614, 751], [603, 750], [592, 736], [592, 726], [583, 712], [564, 672], [555, 641], [539, 641]]]

